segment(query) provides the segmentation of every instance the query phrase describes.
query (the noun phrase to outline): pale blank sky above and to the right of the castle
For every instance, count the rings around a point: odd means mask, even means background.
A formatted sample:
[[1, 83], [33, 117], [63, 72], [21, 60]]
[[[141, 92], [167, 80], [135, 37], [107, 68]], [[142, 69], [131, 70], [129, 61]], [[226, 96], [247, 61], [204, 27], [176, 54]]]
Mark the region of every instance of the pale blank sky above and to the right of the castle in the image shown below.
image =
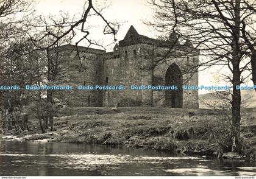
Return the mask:
[[[106, 7], [104, 9], [103, 15], [108, 21], [117, 21], [121, 23], [120, 29], [116, 38], [123, 40], [126, 35], [127, 30], [131, 25], [137, 29], [137, 32], [141, 35], [146, 35], [151, 38], [156, 38], [157, 33], [151, 27], [143, 23], [143, 21], [152, 21], [152, 16], [154, 11], [151, 5], [148, 3], [149, 0], [112, 0], [104, 1], [98, 0], [93, 1], [96, 7], [99, 9], [101, 7]], [[70, 16], [80, 16], [83, 12], [84, 6], [83, 0], [37, 0], [37, 13], [39, 15], [59, 15], [60, 11], [68, 12]], [[113, 42], [113, 37], [111, 35], [104, 35], [102, 33], [102, 21], [99, 18], [89, 19], [91, 24], [90, 37], [91, 39], [96, 39], [99, 43], [106, 46], [107, 51], [113, 48], [112, 46], [107, 46]], [[78, 34], [77, 40], [79, 40], [82, 34]], [[80, 44], [81, 45], [81, 44]], [[199, 57], [199, 60], [202, 57]], [[229, 71], [227, 69], [211, 68], [205, 71], [199, 72], [199, 85], [226, 85], [222, 79], [222, 74], [227, 74]], [[251, 85], [251, 81], [249, 84]], [[209, 93], [209, 91], [199, 90], [199, 94]]]

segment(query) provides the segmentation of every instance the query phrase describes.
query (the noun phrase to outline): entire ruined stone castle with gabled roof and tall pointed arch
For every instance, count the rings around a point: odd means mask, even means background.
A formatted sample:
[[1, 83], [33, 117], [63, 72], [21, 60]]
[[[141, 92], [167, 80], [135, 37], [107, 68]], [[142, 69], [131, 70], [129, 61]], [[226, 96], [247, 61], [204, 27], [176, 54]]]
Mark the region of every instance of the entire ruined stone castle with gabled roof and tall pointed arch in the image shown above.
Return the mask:
[[[191, 50], [192, 49], [192, 50]], [[189, 40], [180, 43], [176, 33], [168, 40], [140, 35], [133, 26], [112, 52], [73, 45], [62, 47], [66, 77], [76, 85], [127, 86], [126, 90], [82, 90], [69, 97], [75, 107], [154, 106], [198, 108], [198, 91], [182, 90], [182, 85], [198, 85], [198, 73], [183, 73], [196, 65], [199, 52]], [[65, 64], [65, 63], [63, 63]], [[84, 68], [80, 68], [83, 64]], [[130, 90], [130, 85], [172, 86], [178, 90]]]

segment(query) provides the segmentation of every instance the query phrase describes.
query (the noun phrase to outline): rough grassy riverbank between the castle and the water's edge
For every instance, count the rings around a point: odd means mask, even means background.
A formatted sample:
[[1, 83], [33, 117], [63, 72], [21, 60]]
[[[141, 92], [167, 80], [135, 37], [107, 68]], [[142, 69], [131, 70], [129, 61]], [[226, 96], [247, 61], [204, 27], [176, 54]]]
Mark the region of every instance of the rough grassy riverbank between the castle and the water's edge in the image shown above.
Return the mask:
[[[246, 141], [244, 158], [255, 158], [255, 108], [244, 109], [241, 136]], [[39, 134], [37, 119], [30, 119], [32, 132], [22, 136], [26, 140], [72, 142], [112, 146], [142, 147], [168, 150], [172, 153], [220, 155], [227, 152], [223, 145], [226, 124], [217, 111], [205, 109], [179, 109], [155, 107], [65, 108], [55, 118], [55, 131]], [[223, 140], [217, 141], [216, 140]], [[251, 146], [251, 147], [247, 147]], [[222, 147], [224, 149], [219, 149]], [[247, 149], [246, 149], [247, 147]]]

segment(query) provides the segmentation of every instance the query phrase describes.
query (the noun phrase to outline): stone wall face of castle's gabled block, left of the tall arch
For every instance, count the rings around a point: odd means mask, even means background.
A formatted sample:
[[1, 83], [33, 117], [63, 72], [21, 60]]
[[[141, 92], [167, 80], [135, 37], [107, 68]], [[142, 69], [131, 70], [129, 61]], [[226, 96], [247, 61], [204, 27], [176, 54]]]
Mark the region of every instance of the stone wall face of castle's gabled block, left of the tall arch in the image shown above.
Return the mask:
[[141, 44], [119, 47], [119, 58], [104, 60], [104, 77], [108, 77], [108, 85], [127, 87], [125, 91], [106, 91], [105, 106], [150, 105], [150, 91], [130, 90], [130, 85], [151, 84], [151, 71], [142, 67], [151, 63], [151, 59], [141, 57], [140, 49]]

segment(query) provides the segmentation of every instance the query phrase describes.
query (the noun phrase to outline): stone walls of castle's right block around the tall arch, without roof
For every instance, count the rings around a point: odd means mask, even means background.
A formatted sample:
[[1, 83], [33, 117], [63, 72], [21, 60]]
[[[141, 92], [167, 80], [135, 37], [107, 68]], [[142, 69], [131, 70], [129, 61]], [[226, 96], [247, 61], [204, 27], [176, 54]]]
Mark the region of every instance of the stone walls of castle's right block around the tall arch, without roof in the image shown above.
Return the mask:
[[[180, 68], [198, 62], [198, 55], [182, 58], [169, 58], [165, 63], [152, 66], [154, 61], [148, 54], [152, 49], [149, 44], [134, 44], [119, 47], [119, 58], [104, 61], [104, 77], [108, 77], [108, 85], [162, 85], [165, 86], [166, 70], [172, 63]], [[126, 55], [127, 52], [127, 55]], [[136, 52], [136, 54], [134, 53]], [[153, 68], [154, 67], [154, 68]], [[183, 84], [198, 85], [198, 74], [183, 74]], [[198, 108], [198, 91], [182, 91], [182, 107]], [[104, 95], [105, 107], [116, 106], [155, 106], [166, 107], [165, 90], [129, 90], [106, 91]]]

